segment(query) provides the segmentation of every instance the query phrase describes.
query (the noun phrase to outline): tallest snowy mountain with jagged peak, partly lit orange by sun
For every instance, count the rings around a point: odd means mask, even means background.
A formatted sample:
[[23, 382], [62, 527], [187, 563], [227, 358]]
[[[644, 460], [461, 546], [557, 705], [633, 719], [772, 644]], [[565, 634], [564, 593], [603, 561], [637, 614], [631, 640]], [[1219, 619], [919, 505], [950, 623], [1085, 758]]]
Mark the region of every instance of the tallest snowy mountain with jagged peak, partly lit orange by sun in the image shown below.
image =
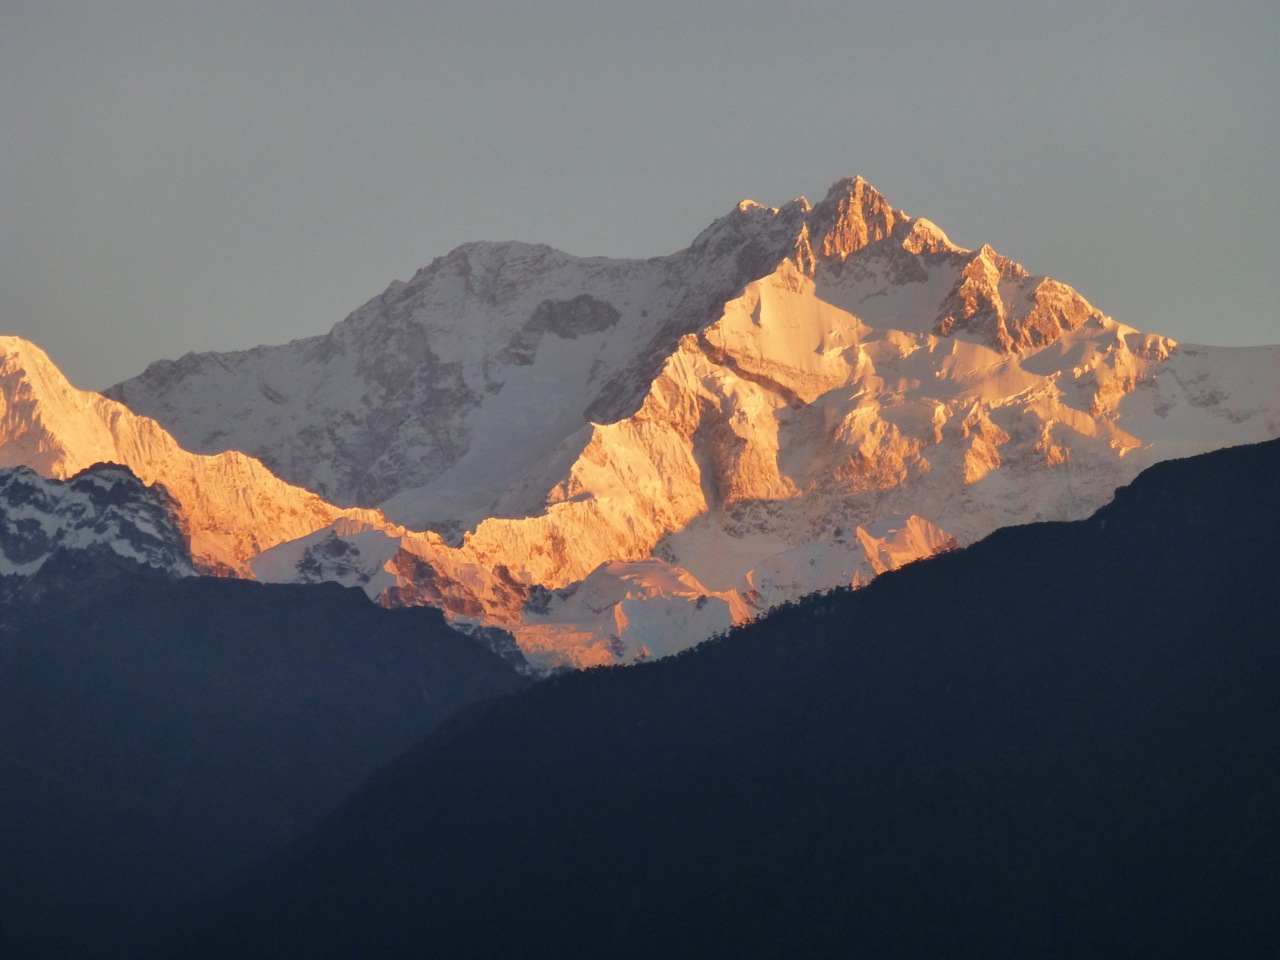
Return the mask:
[[1087, 516], [1156, 461], [1280, 435], [1277, 383], [1280, 347], [1139, 333], [855, 178], [653, 260], [466, 244], [329, 334], [109, 394], [394, 521], [256, 576], [438, 604], [554, 667]]

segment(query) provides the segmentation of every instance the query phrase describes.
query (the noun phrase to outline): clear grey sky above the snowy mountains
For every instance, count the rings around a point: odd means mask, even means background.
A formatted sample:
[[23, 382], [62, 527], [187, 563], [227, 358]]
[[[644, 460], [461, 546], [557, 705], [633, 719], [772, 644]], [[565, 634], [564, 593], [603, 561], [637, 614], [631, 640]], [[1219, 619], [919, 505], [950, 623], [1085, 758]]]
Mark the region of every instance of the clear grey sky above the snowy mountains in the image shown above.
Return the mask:
[[466, 241], [669, 253], [861, 174], [1133, 326], [1275, 343], [1277, 40], [1275, 0], [0, 0], [0, 333], [104, 388]]

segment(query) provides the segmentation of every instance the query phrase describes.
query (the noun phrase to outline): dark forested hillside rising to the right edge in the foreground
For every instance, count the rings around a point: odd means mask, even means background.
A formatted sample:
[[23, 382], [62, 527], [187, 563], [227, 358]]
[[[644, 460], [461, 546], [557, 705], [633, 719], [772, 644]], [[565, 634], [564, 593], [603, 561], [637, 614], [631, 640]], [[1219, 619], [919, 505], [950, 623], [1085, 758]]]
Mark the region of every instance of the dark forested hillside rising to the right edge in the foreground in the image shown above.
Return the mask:
[[1274, 956], [1280, 443], [472, 709], [183, 956]]

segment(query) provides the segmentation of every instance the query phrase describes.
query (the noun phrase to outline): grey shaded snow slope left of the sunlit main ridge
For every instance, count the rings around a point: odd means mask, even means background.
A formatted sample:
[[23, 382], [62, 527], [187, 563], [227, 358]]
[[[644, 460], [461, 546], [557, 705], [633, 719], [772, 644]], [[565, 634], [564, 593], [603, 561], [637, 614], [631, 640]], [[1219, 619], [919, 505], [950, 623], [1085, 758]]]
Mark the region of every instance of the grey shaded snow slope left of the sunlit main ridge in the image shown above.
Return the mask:
[[654, 260], [468, 243], [326, 335], [156, 362], [108, 394], [189, 449], [243, 451], [335, 503], [458, 531], [536, 509], [589, 421], [632, 412], [680, 337], [792, 232], [749, 206]]

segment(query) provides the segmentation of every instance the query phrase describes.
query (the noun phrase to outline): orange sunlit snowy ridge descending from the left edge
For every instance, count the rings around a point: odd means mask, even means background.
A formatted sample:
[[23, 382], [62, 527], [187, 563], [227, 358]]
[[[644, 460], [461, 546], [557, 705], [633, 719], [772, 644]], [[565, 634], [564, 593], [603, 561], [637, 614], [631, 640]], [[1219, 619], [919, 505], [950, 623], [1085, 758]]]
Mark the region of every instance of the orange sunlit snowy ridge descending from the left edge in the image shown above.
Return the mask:
[[[65, 479], [102, 462], [164, 486], [202, 570], [247, 573], [261, 550], [352, 513], [283, 483], [243, 453], [188, 453], [154, 420], [72, 387], [38, 347], [0, 337], [0, 467]], [[379, 520], [371, 511], [355, 515]]]

